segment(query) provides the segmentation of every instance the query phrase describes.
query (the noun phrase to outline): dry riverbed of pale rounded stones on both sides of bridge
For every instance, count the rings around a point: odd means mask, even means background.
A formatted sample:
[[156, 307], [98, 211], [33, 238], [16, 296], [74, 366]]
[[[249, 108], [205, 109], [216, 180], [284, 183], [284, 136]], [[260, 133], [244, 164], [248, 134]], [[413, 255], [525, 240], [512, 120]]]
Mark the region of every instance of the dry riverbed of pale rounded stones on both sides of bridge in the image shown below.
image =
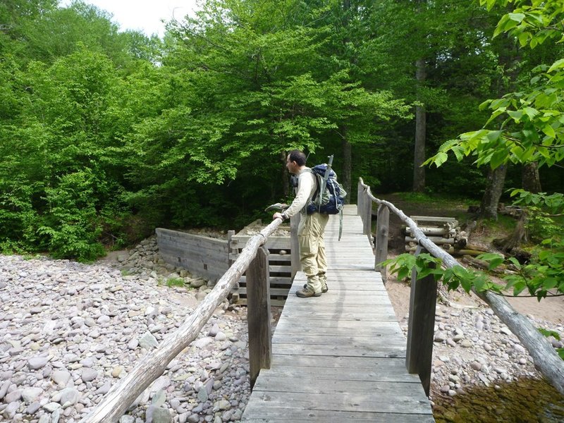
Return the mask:
[[[175, 286], [180, 279], [185, 286]], [[93, 265], [0, 255], [0, 422], [78, 422], [209, 290], [165, 264], [154, 238]], [[564, 335], [562, 324], [537, 324]], [[224, 302], [121, 422], [240, 420], [250, 395], [247, 341], [245, 307]], [[438, 305], [435, 341], [431, 400], [539, 378], [486, 307]]]

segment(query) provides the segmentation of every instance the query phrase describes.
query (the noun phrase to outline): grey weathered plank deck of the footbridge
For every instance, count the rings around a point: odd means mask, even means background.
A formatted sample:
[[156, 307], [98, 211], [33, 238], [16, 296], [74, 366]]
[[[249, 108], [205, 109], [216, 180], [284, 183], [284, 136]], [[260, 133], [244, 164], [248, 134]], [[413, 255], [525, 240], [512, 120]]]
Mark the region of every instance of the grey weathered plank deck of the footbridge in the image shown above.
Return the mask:
[[298, 298], [299, 272], [243, 422], [434, 422], [356, 206], [326, 228], [329, 292]]

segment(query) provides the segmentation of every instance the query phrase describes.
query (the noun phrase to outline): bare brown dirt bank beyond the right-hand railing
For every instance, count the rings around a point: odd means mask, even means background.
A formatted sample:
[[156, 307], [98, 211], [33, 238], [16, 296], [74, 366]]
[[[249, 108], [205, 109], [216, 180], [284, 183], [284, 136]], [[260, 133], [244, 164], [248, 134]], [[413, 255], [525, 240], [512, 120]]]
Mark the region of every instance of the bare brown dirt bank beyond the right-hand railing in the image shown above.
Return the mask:
[[[458, 217], [459, 223], [468, 223], [472, 219], [470, 214], [466, 214], [467, 204], [460, 204], [455, 208], [446, 209], [441, 205], [418, 206], [414, 203], [405, 202], [397, 195], [381, 196], [383, 200], [392, 202], [401, 209], [407, 216], [449, 216]], [[462, 216], [462, 218], [461, 218]], [[464, 220], [466, 221], [464, 221]], [[401, 233], [402, 222], [393, 213], [390, 214], [390, 228], [388, 240], [388, 258], [395, 257], [404, 252], [405, 240]], [[471, 233], [470, 240], [474, 244], [487, 245], [489, 241], [484, 239], [484, 231]], [[398, 281], [395, 275], [388, 274], [386, 289], [390, 296], [396, 317], [401, 320], [407, 316], [410, 300], [410, 286], [405, 281]], [[446, 298], [453, 303], [454, 307], [485, 306], [476, 295], [467, 294], [463, 290], [446, 293]], [[540, 302], [537, 298], [506, 297], [508, 302], [521, 314], [530, 315], [535, 319], [551, 321], [555, 324], [564, 324], [564, 297], [544, 298]]]

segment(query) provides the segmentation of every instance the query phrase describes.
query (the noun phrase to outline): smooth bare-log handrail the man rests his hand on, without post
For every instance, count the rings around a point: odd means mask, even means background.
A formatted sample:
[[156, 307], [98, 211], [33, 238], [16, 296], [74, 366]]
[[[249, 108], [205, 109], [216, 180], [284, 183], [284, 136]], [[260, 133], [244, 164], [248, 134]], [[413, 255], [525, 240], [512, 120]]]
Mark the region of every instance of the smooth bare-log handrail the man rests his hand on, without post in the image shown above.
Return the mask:
[[113, 386], [94, 410], [80, 420], [80, 423], [117, 422], [135, 398], [164, 373], [168, 363], [197, 338], [215, 309], [227, 298], [233, 285], [243, 276], [250, 262], [257, 255], [258, 248], [266, 242], [280, 223], [281, 219], [276, 219], [259, 234], [252, 236], [239, 257], [221, 276], [212, 292], [200, 302], [183, 324], [166, 336], [159, 348], [147, 353], [130, 374]]

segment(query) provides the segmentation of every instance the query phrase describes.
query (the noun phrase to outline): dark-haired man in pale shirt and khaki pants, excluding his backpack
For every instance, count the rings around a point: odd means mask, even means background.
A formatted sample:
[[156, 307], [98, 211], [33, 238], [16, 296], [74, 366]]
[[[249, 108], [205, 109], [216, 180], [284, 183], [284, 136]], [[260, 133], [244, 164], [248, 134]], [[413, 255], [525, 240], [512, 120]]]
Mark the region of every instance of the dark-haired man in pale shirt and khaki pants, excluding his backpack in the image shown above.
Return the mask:
[[305, 154], [300, 150], [293, 150], [286, 158], [286, 168], [298, 176], [298, 191], [290, 207], [282, 213], [274, 213], [273, 219], [288, 219], [300, 212], [298, 226], [298, 241], [300, 244], [300, 264], [307, 276], [307, 283], [295, 295], [301, 298], [319, 297], [326, 293], [327, 262], [325, 256], [324, 231], [328, 214], [313, 212], [307, 214], [307, 205], [312, 200], [317, 188], [316, 177], [310, 168], [305, 166]]

